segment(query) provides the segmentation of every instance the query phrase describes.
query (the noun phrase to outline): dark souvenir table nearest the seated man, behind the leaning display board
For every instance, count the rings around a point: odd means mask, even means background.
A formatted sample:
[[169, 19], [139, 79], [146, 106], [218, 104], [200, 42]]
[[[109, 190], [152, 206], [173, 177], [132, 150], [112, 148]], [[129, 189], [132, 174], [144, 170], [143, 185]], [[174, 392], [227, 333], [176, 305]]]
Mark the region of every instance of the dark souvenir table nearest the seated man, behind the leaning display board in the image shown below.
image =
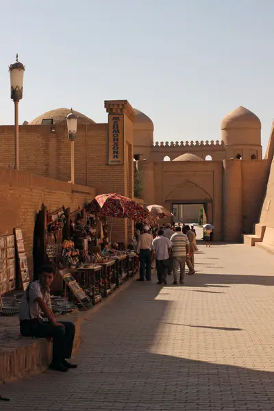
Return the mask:
[[83, 264], [75, 269], [69, 269], [73, 273], [78, 284], [90, 293], [93, 306], [101, 301], [101, 271], [99, 264]]

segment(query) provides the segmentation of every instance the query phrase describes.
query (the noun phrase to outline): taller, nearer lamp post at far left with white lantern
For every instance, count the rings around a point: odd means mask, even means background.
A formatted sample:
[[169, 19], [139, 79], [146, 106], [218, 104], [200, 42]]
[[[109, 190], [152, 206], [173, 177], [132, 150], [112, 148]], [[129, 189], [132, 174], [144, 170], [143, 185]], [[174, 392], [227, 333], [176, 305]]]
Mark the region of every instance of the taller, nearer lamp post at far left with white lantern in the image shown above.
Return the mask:
[[18, 109], [19, 101], [23, 97], [23, 78], [25, 66], [18, 62], [18, 54], [16, 54], [16, 62], [10, 64], [10, 98], [14, 101], [14, 151], [15, 151], [15, 169], [19, 169], [19, 121]]

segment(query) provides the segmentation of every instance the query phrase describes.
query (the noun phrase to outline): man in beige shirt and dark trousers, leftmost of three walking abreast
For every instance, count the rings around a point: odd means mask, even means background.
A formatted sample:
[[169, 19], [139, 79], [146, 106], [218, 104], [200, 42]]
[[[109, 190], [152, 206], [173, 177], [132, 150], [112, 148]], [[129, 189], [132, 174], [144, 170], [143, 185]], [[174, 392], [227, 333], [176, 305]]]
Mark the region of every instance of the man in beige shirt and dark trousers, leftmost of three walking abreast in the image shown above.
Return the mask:
[[137, 253], [140, 254], [140, 278], [137, 281], [151, 281], [151, 247], [153, 236], [149, 234], [149, 227], [145, 225], [143, 234], [137, 244]]

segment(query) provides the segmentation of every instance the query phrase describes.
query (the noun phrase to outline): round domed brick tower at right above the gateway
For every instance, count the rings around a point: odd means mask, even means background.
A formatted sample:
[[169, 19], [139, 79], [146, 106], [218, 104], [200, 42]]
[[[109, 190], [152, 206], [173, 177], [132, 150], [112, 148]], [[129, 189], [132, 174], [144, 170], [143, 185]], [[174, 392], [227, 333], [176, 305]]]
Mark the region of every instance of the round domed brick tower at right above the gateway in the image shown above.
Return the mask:
[[262, 159], [260, 119], [241, 105], [224, 117], [221, 123], [221, 140], [226, 147], [227, 160]]

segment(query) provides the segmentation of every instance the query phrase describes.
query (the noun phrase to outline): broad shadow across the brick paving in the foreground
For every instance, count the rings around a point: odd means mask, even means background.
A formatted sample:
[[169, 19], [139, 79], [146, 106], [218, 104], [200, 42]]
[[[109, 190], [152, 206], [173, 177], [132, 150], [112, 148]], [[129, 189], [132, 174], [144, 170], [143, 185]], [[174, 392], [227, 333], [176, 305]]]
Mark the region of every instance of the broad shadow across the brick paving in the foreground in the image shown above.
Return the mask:
[[184, 344], [184, 334], [174, 335], [182, 345], [173, 351], [170, 325], [164, 325], [173, 301], [160, 299], [162, 291], [153, 283], [135, 283], [101, 306], [82, 326], [78, 368], [4, 384], [1, 395], [12, 398], [5, 410], [36, 411], [34, 399], [42, 410], [67, 410], [68, 405], [89, 411], [271, 409], [273, 372], [190, 360], [191, 340]]

